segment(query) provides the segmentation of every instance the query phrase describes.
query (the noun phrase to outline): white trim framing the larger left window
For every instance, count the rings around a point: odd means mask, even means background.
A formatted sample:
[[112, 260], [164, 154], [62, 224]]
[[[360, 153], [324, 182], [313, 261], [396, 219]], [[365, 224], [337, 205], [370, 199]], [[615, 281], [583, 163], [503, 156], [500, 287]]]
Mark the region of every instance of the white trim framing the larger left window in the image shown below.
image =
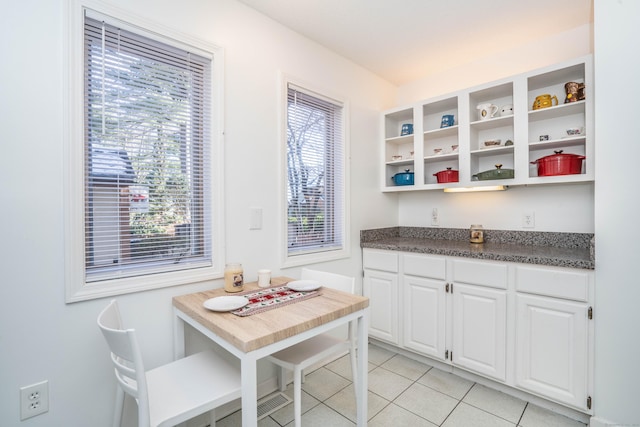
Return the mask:
[[[224, 51], [199, 40], [121, 9], [96, 0], [70, 0], [65, 13], [65, 52], [67, 60], [63, 103], [67, 118], [64, 123], [64, 249], [66, 302], [84, 301], [131, 292], [183, 285], [223, 276], [224, 269], [224, 210], [223, 210], [223, 70]], [[210, 196], [212, 207], [212, 262], [211, 267], [178, 270], [137, 277], [88, 283], [84, 264], [84, 15], [97, 13], [126, 22], [135, 31], [161, 41], [170, 39], [177, 46], [189, 46], [199, 54], [213, 58], [211, 72], [211, 163]], [[162, 34], [163, 36], [159, 36]], [[172, 43], [174, 44], [174, 43]]]

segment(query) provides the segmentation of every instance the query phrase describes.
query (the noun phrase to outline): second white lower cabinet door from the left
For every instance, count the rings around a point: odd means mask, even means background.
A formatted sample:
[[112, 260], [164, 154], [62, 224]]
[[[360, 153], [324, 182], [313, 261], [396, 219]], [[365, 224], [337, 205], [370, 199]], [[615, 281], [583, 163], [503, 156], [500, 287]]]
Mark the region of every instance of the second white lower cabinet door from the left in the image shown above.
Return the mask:
[[445, 283], [403, 277], [404, 346], [440, 360], [445, 358]]

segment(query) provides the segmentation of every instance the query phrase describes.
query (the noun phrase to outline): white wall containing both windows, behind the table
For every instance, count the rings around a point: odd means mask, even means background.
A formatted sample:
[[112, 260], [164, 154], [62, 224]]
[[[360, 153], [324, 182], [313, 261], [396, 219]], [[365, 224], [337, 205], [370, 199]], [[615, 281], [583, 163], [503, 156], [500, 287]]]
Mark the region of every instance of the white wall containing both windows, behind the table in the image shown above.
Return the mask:
[[[0, 425], [110, 425], [115, 381], [96, 326], [106, 300], [64, 303], [62, 89], [64, 0], [3, 3], [0, 14]], [[146, 19], [222, 46], [226, 55], [227, 259], [279, 271], [278, 73], [351, 104], [352, 258], [323, 265], [359, 276], [358, 231], [397, 223], [395, 197], [378, 191], [379, 111], [395, 88], [234, 0], [113, 0]], [[11, 42], [9, 42], [11, 40]], [[249, 207], [263, 229], [249, 230]], [[375, 209], [372, 207], [375, 206]], [[297, 275], [297, 271], [280, 271]], [[172, 357], [171, 297], [219, 281], [119, 298], [147, 367]], [[19, 387], [50, 382], [50, 411], [19, 420]]]

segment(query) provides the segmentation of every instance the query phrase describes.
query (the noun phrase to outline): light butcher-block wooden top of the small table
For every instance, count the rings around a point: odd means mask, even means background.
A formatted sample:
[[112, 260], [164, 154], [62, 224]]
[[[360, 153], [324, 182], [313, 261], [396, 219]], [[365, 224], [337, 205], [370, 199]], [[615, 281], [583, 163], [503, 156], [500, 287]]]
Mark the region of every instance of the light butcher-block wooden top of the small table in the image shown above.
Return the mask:
[[[295, 279], [273, 277], [271, 286], [282, 286], [291, 280]], [[244, 292], [254, 289], [261, 288], [256, 282], [245, 283]], [[369, 306], [369, 298], [360, 295], [325, 286], [320, 291], [321, 295], [317, 297], [246, 317], [204, 308], [203, 303], [209, 298], [236, 295], [223, 288], [174, 297], [173, 305], [239, 350], [249, 352]]]

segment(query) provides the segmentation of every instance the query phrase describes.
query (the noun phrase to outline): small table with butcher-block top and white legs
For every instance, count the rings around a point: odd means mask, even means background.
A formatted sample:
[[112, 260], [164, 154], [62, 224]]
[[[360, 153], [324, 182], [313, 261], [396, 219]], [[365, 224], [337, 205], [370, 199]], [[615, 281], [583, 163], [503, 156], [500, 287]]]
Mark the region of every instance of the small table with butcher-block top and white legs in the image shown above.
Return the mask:
[[[271, 287], [292, 281], [274, 277]], [[244, 291], [259, 290], [257, 283], [245, 283]], [[229, 294], [213, 289], [173, 298], [174, 356], [185, 356], [184, 325], [189, 324], [240, 359], [242, 375], [242, 425], [255, 427], [257, 419], [257, 361], [272, 353], [353, 322], [357, 331], [357, 425], [367, 425], [367, 324], [369, 299], [323, 286], [319, 295], [274, 307], [248, 316], [214, 312], [203, 303]]]

